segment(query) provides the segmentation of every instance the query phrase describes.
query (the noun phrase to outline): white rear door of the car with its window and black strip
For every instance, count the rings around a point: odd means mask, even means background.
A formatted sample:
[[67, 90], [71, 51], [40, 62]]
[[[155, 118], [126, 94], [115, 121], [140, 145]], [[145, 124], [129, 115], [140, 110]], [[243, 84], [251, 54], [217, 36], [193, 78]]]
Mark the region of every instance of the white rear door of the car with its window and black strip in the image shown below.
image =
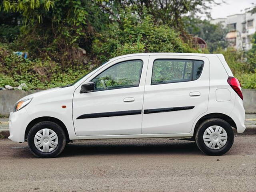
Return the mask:
[[209, 60], [202, 56], [150, 56], [144, 92], [142, 133], [189, 133], [207, 111]]

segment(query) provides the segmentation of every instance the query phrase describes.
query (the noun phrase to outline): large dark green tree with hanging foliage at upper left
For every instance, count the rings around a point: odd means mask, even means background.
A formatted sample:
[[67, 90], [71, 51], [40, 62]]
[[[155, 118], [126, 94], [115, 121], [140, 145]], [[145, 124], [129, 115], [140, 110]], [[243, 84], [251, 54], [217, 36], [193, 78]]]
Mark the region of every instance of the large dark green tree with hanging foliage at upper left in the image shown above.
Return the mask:
[[78, 46], [89, 51], [94, 33], [108, 23], [108, 15], [92, 0], [4, 0], [3, 8], [22, 17], [16, 48], [62, 64], [76, 58]]

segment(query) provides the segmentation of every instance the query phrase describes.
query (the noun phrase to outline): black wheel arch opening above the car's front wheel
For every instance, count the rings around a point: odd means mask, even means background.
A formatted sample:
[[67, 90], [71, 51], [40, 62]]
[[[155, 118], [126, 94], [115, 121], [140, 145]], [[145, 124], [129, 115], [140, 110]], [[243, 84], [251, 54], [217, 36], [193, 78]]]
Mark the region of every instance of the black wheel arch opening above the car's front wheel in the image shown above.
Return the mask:
[[39, 122], [42, 122], [42, 121], [51, 121], [51, 122], [54, 122], [56, 124], [58, 124], [65, 132], [65, 135], [66, 135], [66, 140], [69, 141], [70, 138], [69, 138], [69, 134], [68, 134], [68, 130], [65, 126], [65, 124], [59, 120], [58, 118], [55, 118], [55, 117], [50, 117], [50, 116], [44, 116], [44, 117], [38, 117], [38, 118], [35, 118], [33, 119], [32, 121], [30, 121], [30, 123], [28, 124], [28, 126], [26, 127], [26, 131], [25, 131], [25, 140], [27, 140], [28, 138], [28, 132], [31, 130], [31, 128], [39, 123]]

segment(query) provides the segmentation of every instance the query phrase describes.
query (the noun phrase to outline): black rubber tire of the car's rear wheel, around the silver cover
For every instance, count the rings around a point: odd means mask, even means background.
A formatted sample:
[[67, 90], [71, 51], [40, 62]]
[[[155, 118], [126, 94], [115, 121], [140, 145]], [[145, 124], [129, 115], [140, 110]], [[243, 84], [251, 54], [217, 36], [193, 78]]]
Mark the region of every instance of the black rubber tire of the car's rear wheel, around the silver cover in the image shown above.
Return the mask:
[[[208, 146], [206, 146], [206, 144], [204, 143], [204, 139], [203, 139], [203, 135], [205, 130], [210, 127], [210, 126], [221, 126], [222, 128], [224, 128], [224, 130], [226, 131], [227, 135], [228, 135], [228, 139], [226, 144], [219, 149], [211, 149]], [[208, 155], [222, 155], [225, 154], [226, 152], [228, 152], [228, 150], [230, 150], [230, 148], [232, 147], [233, 143], [234, 143], [234, 132], [230, 126], [230, 124], [228, 124], [226, 121], [219, 119], [219, 118], [212, 118], [212, 119], [208, 119], [205, 120], [204, 122], [202, 122], [202, 124], [200, 124], [198, 130], [196, 131], [196, 144], [198, 146], [198, 148], [208, 154]]]

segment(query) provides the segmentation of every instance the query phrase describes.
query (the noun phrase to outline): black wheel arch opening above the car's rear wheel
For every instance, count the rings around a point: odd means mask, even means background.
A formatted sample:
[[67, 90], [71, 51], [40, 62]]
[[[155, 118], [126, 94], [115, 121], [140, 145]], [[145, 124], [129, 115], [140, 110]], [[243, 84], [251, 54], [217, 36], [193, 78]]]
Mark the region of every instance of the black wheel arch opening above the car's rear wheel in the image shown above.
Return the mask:
[[204, 116], [202, 116], [197, 122], [196, 122], [196, 125], [195, 125], [195, 128], [194, 128], [194, 134], [193, 136], [195, 136], [196, 134], [196, 130], [198, 129], [199, 125], [204, 122], [205, 120], [207, 119], [210, 119], [210, 118], [220, 118], [224, 121], [226, 121], [228, 124], [230, 124], [231, 127], [234, 127], [236, 128], [236, 123], [234, 122], [234, 120], [226, 115], [226, 114], [223, 114], [223, 113], [210, 113], [210, 114], [206, 114]]

